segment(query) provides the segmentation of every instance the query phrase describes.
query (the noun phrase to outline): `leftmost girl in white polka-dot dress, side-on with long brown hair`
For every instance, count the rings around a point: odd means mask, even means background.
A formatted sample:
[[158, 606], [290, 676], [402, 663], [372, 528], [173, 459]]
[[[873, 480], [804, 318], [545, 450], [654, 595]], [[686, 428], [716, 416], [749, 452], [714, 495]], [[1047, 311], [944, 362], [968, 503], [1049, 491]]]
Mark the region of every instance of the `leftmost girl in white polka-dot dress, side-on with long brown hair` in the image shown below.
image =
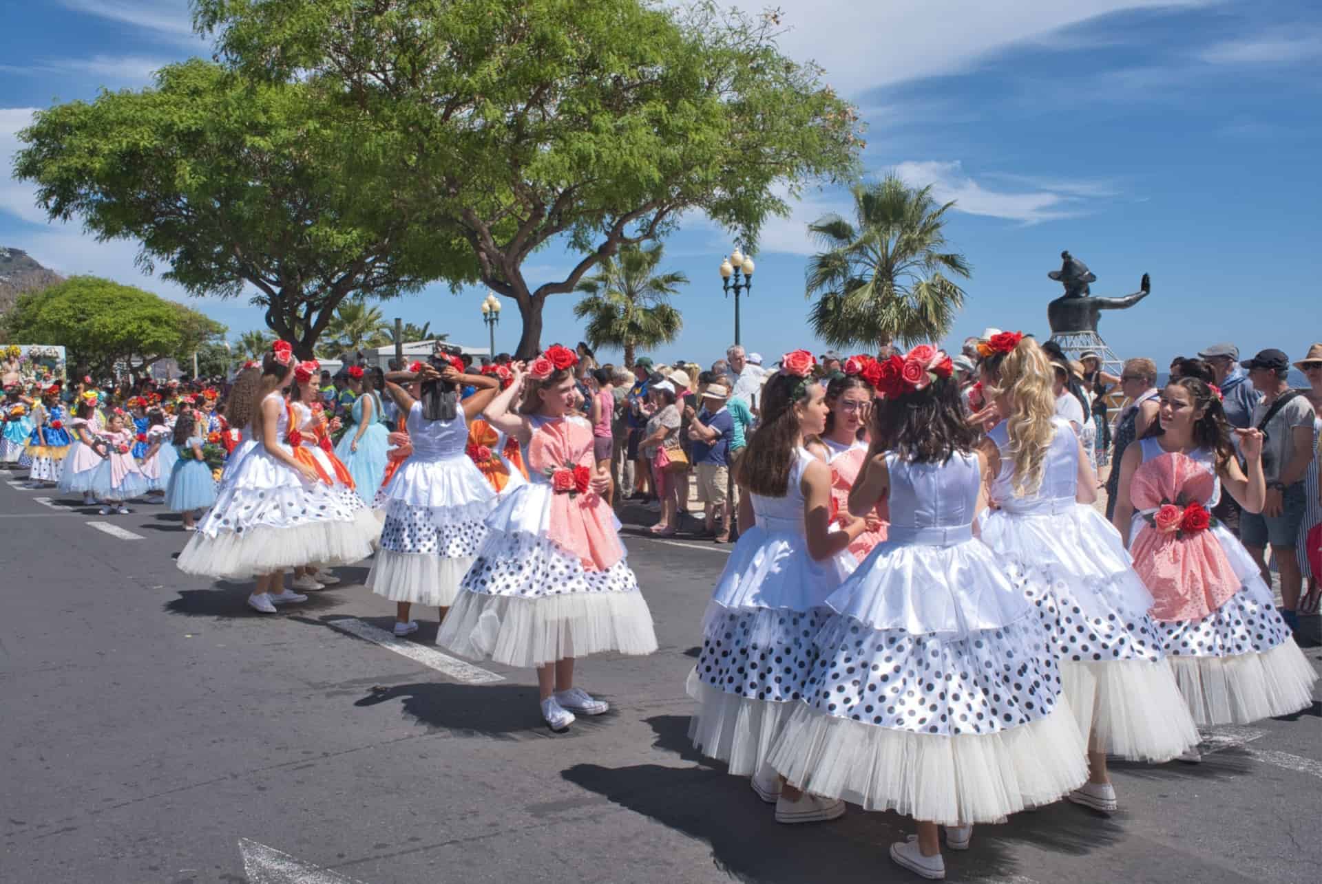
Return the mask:
[[293, 346], [276, 341], [262, 359], [258, 382], [241, 378], [235, 385], [235, 419], [251, 416], [255, 443], [222, 480], [215, 505], [178, 556], [185, 573], [255, 577], [249, 605], [263, 613], [307, 600], [283, 588], [286, 570], [365, 559], [379, 529], [366, 509], [346, 509], [315, 468], [295, 459], [280, 395], [292, 379]]

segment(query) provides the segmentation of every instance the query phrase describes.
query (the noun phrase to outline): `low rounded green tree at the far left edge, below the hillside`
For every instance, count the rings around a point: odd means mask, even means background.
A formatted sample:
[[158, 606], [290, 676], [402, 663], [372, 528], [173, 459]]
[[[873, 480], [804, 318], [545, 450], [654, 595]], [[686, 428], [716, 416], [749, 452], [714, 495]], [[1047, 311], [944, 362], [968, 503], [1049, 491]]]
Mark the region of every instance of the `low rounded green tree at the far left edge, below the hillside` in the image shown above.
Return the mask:
[[107, 375], [116, 363], [141, 374], [161, 359], [192, 365], [225, 326], [182, 304], [98, 276], [19, 296], [4, 317], [13, 340], [63, 345], [70, 366]]

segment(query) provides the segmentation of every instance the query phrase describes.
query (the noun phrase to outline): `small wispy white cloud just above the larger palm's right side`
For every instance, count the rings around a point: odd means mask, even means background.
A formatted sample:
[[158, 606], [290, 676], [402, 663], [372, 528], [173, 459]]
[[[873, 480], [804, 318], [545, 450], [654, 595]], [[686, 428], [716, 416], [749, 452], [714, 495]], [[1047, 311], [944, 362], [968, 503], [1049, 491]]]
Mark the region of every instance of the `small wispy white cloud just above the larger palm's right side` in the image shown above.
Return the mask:
[[[958, 160], [907, 160], [895, 166], [906, 184], [916, 188], [932, 185], [932, 196], [940, 202], [956, 201], [954, 211], [970, 215], [1006, 218], [1035, 225], [1059, 218], [1075, 218], [1084, 211], [1077, 190], [1091, 185], [1039, 188], [1026, 192], [993, 190], [982, 186], [964, 172]], [[1075, 193], [1071, 193], [1071, 189]]]

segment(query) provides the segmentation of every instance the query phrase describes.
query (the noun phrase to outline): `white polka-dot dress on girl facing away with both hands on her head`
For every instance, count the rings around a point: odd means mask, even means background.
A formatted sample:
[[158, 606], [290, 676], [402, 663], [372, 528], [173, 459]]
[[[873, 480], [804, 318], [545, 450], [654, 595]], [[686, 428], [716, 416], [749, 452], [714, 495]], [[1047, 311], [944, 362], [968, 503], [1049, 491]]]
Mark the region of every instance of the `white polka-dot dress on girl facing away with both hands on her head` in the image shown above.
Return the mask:
[[407, 428], [412, 455], [377, 496], [385, 522], [366, 585], [391, 601], [448, 608], [486, 539], [496, 492], [464, 453], [463, 408], [427, 420], [414, 402]]

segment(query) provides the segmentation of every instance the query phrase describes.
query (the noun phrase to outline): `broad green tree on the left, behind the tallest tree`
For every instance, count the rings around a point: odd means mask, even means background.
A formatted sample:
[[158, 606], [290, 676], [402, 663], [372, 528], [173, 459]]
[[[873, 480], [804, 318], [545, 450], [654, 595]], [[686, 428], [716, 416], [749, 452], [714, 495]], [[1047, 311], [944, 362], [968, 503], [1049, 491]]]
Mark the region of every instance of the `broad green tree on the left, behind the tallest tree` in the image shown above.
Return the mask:
[[251, 295], [301, 358], [350, 293], [389, 297], [472, 264], [407, 194], [393, 145], [299, 79], [192, 59], [149, 89], [41, 111], [20, 139], [15, 173], [52, 219], [137, 240], [144, 267], [168, 266], [194, 295]]

